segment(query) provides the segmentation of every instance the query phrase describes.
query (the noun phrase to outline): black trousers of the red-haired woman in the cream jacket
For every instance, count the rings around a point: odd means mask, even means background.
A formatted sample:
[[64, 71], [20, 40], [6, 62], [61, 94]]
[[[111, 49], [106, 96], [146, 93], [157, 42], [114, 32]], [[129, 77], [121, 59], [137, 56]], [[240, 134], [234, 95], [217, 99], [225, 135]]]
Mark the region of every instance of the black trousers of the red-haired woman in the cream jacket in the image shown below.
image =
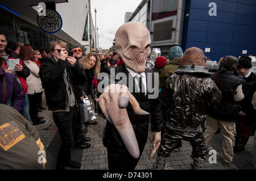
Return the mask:
[[30, 104], [30, 119], [33, 123], [38, 121], [38, 98], [42, 96], [43, 92], [35, 94], [27, 94]]

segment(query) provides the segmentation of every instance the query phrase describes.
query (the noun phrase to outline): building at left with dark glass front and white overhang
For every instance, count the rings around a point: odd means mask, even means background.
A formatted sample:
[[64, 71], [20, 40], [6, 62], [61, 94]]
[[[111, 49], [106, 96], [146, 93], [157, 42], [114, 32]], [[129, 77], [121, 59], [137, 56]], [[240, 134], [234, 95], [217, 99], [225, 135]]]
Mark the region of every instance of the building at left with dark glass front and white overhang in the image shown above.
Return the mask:
[[[59, 32], [47, 33], [38, 26], [40, 2], [46, 3], [46, 9], [51, 6], [59, 12], [63, 21]], [[87, 54], [95, 45], [90, 0], [0, 0], [0, 24], [0, 32], [7, 36], [7, 48], [10, 49], [14, 49], [16, 41], [41, 49], [60, 39], [68, 48], [81, 45], [83, 54]]]

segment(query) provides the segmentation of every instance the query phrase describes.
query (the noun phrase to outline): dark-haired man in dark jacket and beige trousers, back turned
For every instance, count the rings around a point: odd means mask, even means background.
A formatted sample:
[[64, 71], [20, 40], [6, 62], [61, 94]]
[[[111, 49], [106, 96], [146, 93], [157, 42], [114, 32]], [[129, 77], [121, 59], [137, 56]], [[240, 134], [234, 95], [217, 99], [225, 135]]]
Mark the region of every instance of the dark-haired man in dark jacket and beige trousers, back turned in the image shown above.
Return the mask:
[[212, 74], [213, 81], [221, 91], [222, 101], [217, 110], [210, 109], [208, 111], [209, 117], [205, 122], [206, 131], [204, 137], [208, 150], [212, 144], [214, 133], [220, 128], [222, 136], [221, 160], [227, 166], [232, 165], [234, 157], [235, 122], [238, 120], [238, 112], [240, 112], [236, 102], [244, 97], [242, 92], [244, 80], [234, 75], [237, 65], [238, 59], [236, 57], [226, 56], [221, 61], [221, 69]]

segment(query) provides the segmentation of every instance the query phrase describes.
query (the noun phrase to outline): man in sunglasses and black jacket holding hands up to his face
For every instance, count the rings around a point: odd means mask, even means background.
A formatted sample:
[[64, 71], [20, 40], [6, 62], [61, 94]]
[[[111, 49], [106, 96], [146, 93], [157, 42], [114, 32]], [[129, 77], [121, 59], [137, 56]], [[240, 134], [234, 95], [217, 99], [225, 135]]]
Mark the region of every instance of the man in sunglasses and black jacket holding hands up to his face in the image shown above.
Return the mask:
[[61, 40], [52, 41], [52, 57], [40, 66], [39, 75], [46, 93], [49, 110], [59, 128], [61, 146], [57, 155], [56, 169], [65, 170], [65, 166], [80, 168], [81, 163], [71, 159], [71, 148], [74, 143], [73, 132], [77, 120], [79, 104], [76, 96], [75, 77], [76, 58], [68, 56], [67, 47]]

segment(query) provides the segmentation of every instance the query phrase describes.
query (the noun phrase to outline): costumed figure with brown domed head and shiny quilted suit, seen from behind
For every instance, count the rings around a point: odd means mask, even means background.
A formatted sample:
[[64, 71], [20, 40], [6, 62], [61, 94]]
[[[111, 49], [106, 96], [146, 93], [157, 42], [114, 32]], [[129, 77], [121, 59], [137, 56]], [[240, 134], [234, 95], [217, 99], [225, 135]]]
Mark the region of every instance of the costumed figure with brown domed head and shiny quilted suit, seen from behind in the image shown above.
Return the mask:
[[192, 145], [192, 169], [203, 169], [207, 153], [203, 136], [207, 108], [217, 109], [222, 99], [206, 67], [203, 51], [192, 47], [184, 52], [175, 74], [167, 78], [161, 98], [167, 124], [157, 150], [155, 169], [164, 169], [166, 157], [181, 139]]

